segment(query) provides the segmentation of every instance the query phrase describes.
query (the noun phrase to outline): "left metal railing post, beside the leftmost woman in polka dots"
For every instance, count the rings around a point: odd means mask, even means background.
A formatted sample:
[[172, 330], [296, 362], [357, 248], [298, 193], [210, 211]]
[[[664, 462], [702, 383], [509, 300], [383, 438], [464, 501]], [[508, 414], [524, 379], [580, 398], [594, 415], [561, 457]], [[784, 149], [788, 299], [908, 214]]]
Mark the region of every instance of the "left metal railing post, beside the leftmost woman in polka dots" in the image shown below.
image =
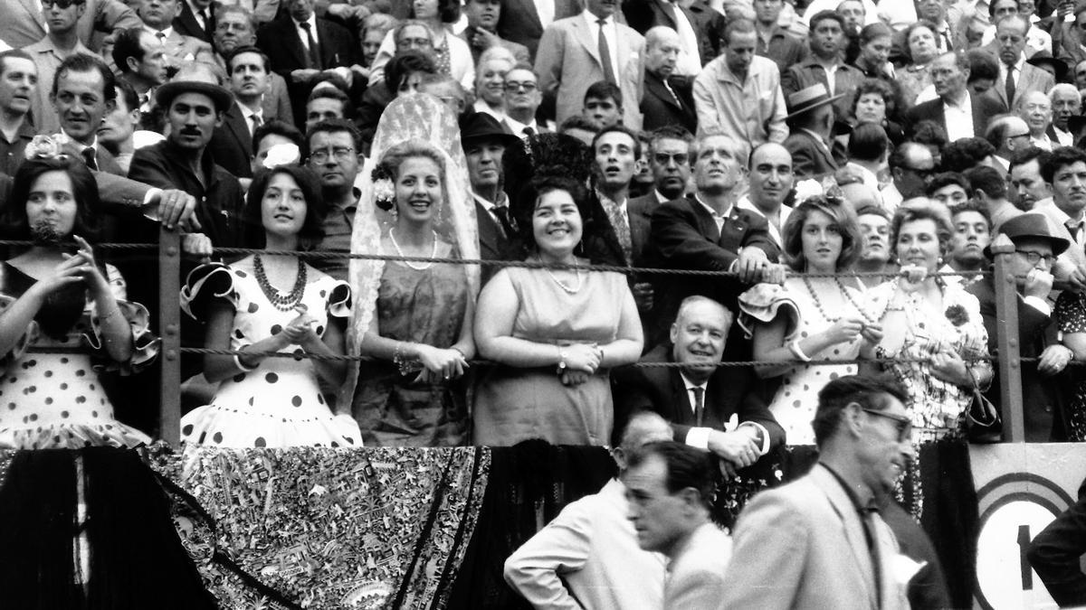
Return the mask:
[[162, 329], [162, 379], [159, 435], [181, 442], [181, 236], [159, 229], [159, 328]]

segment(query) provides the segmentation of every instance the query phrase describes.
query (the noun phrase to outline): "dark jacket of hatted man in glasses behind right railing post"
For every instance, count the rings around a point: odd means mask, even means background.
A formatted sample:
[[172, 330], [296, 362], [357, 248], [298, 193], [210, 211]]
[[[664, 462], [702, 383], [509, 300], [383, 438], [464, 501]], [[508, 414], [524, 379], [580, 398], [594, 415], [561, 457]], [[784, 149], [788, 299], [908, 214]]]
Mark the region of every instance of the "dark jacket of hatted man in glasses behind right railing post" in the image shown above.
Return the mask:
[[[981, 304], [981, 316], [984, 328], [988, 331], [988, 353], [999, 353], [999, 335], [1003, 332], [1003, 323], [996, 316], [996, 289], [992, 277], [987, 276], [973, 282], [965, 289], [976, 296]], [[1052, 321], [1051, 316], [1030, 305], [1018, 295], [1019, 315], [1019, 350], [1023, 358], [1035, 358], [1045, 351], [1048, 344], [1045, 331]], [[1053, 325], [1055, 326], [1055, 325]], [[1055, 330], [1055, 328], [1053, 328]], [[992, 404], [1001, 408], [999, 392], [999, 367], [994, 367], [996, 376], [985, 396]], [[1070, 406], [1064, 390], [1066, 378], [1063, 373], [1056, 377], [1044, 376], [1037, 371], [1036, 363], [1022, 363], [1022, 406], [1025, 416], [1025, 440], [1028, 443], [1048, 443], [1066, 441], [1064, 407]]]

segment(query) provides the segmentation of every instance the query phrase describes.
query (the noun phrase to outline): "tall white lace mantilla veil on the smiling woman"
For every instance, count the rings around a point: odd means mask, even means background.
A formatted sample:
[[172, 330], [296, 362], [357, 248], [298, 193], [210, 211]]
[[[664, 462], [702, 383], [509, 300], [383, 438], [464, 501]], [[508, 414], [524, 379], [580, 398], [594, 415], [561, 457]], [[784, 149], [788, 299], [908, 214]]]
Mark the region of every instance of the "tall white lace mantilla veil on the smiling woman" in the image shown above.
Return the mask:
[[[351, 252], [355, 254], [394, 254], [381, 252], [381, 236], [392, 227], [390, 213], [374, 203], [374, 167], [390, 148], [408, 140], [421, 140], [441, 154], [445, 165], [445, 201], [435, 225], [441, 239], [453, 244], [462, 258], [479, 258], [479, 226], [476, 224], [475, 200], [468, 185], [467, 160], [460, 145], [456, 117], [440, 100], [426, 93], [413, 93], [393, 100], [381, 114], [374, 136], [369, 158], [362, 168], [362, 195], [354, 216]], [[466, 265], [468, 294], [479, 293], [479, 266]], [[348, 354], [358, 355], [363, 335], [369, 329], [377, 308], [383, 260], [352, 258], [348, 282], [354, 292], [354, 310], [348, 328]], [[350, 405], [358, 382], [358, 366], [348, 367], [346, 383], [339, 401]], [[345, 402], [343, 402], [345, 401]]]

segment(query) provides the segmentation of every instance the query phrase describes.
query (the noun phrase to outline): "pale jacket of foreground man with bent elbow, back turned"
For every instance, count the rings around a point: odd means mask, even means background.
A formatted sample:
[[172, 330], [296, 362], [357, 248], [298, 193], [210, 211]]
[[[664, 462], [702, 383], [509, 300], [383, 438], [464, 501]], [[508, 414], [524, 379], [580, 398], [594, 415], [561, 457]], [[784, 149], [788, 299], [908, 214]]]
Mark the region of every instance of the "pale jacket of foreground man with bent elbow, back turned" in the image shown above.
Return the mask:
[[505, 581], [535, 608], [659, 608], [665, 558], [637, 546], [624, 494], [611, 479], [567, 505], [505, 560]]

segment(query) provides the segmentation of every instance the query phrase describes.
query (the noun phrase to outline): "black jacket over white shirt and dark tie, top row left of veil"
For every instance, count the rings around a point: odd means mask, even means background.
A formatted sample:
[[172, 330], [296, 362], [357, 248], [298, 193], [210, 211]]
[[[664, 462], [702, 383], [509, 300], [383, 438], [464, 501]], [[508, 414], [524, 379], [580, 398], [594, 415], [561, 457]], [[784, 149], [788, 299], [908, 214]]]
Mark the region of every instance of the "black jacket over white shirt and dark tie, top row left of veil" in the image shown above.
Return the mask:
[[[317, 24], [317, 48], [320, 50], [321, 68], [351, 66], [361, 63], [361, 51], [346, 28], [327, 20], [314, 17]], [[294, 124], [305, 125], [305, 101], [313, 86], [294, 82], [290, 73], [305, 67], [307, 52], [298, 35], [294, 22], [287, 15], [265, 24], [256, 33], [256, 46], [268, 56], [268, 65], [287, 81], [290, 104], [294, 110]]]

